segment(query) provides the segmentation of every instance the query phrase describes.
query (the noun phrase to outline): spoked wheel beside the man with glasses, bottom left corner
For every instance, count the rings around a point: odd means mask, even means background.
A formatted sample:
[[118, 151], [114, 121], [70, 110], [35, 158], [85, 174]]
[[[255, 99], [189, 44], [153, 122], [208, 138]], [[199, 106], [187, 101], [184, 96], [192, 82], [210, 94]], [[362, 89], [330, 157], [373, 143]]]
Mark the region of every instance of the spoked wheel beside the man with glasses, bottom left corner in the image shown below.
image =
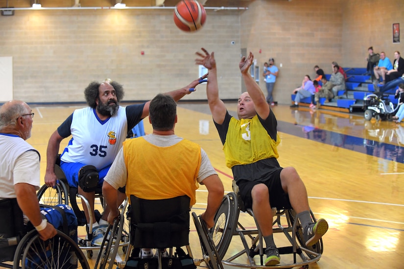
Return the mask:
[[42, 241], [36, 230], [27, 233], [14, 255], [13, 269], [58, 268], [89, 269], [86, 257], [77, 244], [61, 231]]

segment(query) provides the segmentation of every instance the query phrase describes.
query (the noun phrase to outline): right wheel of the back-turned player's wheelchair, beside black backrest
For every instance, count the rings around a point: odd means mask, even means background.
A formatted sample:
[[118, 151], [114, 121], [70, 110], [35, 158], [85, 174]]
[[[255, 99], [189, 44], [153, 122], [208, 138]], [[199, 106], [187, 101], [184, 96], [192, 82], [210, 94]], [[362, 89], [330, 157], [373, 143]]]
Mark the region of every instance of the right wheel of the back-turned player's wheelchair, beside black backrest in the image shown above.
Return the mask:
[[[202, 255], [209, 269], [223, 269], [221, 258], [214, 246], [212, 237], [203, 220], [199, 220], [195, 212], [192, 212], [193, 223], [199, 236], [199, 241], [202, 247]], [[208, 257], [207, 257], [208, 256]]]

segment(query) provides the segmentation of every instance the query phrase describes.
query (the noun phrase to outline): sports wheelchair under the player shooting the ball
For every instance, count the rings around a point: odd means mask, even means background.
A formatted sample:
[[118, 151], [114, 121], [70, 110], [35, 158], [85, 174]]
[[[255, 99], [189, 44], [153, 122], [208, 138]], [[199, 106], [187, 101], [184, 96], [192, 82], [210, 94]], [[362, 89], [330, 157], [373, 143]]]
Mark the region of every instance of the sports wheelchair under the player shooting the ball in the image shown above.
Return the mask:
[[[238, 195], [238, 186], [236, 181], [233, 181], [233, 190], [224, 196], [219, 209], [214, 217], [214, 227], [210, 229], [210, 234], [214, 241], [219, 258], [224, 265], [235, 266], [239, 268], [309, 268], [310, 263], [314, 263], [321, 258], [323, 253], [323, 241], [320, 239], [315, 245], [311, 247], [305, 246], [303, 237], [303, 230], [299, 220], [296, 217], [295, 211], [290, 207], [287, 208], [272, 208], [275, 221], [273, 226], [277, 225], [277, 228], [273, 227], [274, 238], [276, 233], [283, 233], [287, 240], [283, 240], [282, 244], [287, 244], [285, 247], [281, 246], [277, 242], [278, 250], [281, 255], [281, 264], [276, 266], [265, 266], [263, 264], [263, 237], [259, 228], [247, 229], [240, 224], [238, 218], [240, 211], [248, 213], [254, 218], [252, 209], [245, 209], [244, 204]], [[311, 218], [313, 222], [316, 222], [313, 213], [310, 210]], [[285, 221], [283, 220], [285, 217]], [[256, 227], [259, 227], [257, 221], [254, 218]], [[225, 257], [227, 249], [230, 246], [233, 236], [239, 236], [243, 250], [234, 254], [231, 257]], [[247, 239], [251, 240], [249, 245]], [[275, 238], [277, 240], [277, 238]], [[286, 243], [284, 242], [286, 241]], [[234, 241], [233, 241], [234, 242]], [[247, 263], [245, 262], [246, 254]], [[260, 264], [256, 264], [254, 256], [260, 255]], [[283, 254], [291, 254], [289, 256]], [[239, 258], [243, 256], [244, 259]], [[293, 261], [291, 261], [291, 257]], [[297, 256], [300, 260], [297, 260]], [[288, 261], [284, 263], [283, 261]]]

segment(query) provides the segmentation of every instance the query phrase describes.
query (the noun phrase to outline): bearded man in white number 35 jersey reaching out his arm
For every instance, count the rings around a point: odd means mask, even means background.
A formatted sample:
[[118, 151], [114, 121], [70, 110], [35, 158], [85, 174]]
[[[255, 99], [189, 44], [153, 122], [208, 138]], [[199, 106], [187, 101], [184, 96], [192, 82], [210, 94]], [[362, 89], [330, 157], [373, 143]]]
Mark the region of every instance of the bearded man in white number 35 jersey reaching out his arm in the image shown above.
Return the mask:
[[[196, 79], [188, 86], [166, 94], [178, 101], [194, 90], [199, 83], [200, 79]], [[60, 157], [60, 167], [69, 185], [77, 187], [78, 193], [90, 202], [93, 216], [95, 216], [95, 188], [102, 186], [103, 179], [128, 132], [149, 113], [150, 101], [126, 108], [119, 106], [123, 94], [123, 87], [118, 82], [105, 80], [102, 83], [90, 83], [84, 90], [89, 107], [75, 110], [50, 136], [48, 142], [45, 183], [54, 186], [56, 184], [54, 167], [60, 142], [72, 135]], [[123, 201], [125, 195], [120, 193], [119, 197], [119, 200]], [[99, 246], [102, 243], [108, 226], [106, 219], [109, 207], [107, 204], [101, 220], [93, 225], [91, 231], [93, 245]], [[86, 206], [83, 208], [89, 226], [89, 212]]]

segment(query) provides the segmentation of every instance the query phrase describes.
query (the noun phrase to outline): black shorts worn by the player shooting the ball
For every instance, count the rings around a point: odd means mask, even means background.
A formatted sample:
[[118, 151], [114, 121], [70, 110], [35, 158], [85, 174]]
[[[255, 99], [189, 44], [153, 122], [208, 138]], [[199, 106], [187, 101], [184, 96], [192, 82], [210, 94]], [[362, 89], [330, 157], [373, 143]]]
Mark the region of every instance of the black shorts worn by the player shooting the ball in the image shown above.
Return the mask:
[[292, 208], [289, 202], [289, 196], [282, 189], [281, 184], [281, 171], [283, 168], [276, 170], [265, 181], [249, 181], [238, 180], [236, 183], [239, 188], [241, 200], [244, 202], [244, 208], [252, 208], [253, 200], [251, 197], [251, 190], [257, 184], [265, 184], [269, 190], [269, 203], [271, 207], [277, 209]]

